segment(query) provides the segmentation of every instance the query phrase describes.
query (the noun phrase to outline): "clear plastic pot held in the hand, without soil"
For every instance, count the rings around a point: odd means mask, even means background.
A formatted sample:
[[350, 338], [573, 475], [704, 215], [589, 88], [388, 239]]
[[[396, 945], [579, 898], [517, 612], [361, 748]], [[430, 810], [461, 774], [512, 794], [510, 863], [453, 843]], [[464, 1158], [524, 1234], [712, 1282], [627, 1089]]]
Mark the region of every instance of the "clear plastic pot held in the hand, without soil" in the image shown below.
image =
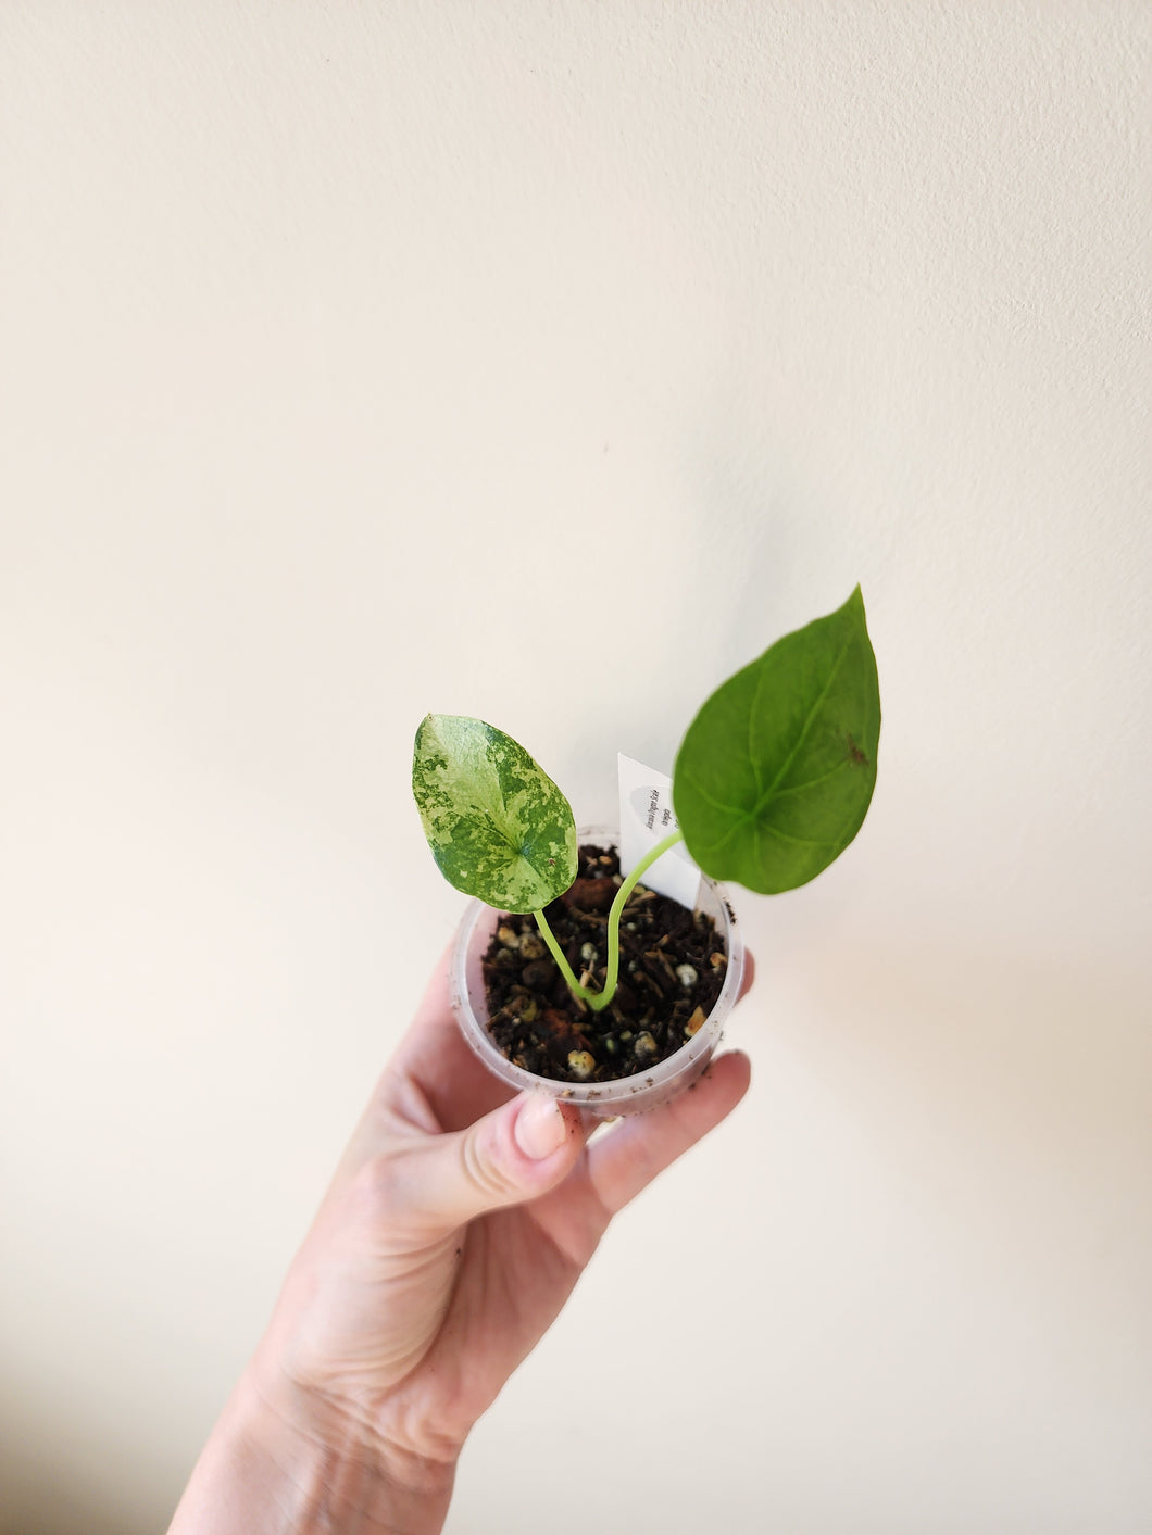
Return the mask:
[[[585, 826], [579, 830], [581, 844], [591, 843], [599, 847], [616, 847], [617, 834], [602, 826]], [[578, 1104], [594, 1119], [614, 1119], [617, 1114], [637, 1114], [648, 1108], [667, 1104], [690, 1087], [703, 1071], [713, 1056], [723, 1025], [740, 995], [743, 978], [743, 942], [736, 926], [736, 913], [728, 904], [723, 887], [707, 875], [700, 876], [700, 893], [696, 910], [703, 912], [716, 923], [716, 930], [722, 933], [728, 952], [728, 966], [723, 987], [716, 998], [716, 1005], [703, 1025], [685, 1041], [679, 1050], [670, 1055], [659, 1065], [633, 1076], [621, 1076], [611, 1082], [554, 1082], [551, 1078], [535, 1076], [504, 1056], [487, 1030], [488, 1007], [484, 995], [484, 976], [481, 959], [484, 958], [492, 935], [499, 927], [502, 913], [482, 901], [472, 901], [464, 912], [456, 944], [452, 952], [452, 1005], [456, 1019], [464, 1032], [464, 1038], [481, 1058], [481, 1061], [498, 1078], [516, 1091], [536, 1088], [562, 1098], [568, 1104]]]

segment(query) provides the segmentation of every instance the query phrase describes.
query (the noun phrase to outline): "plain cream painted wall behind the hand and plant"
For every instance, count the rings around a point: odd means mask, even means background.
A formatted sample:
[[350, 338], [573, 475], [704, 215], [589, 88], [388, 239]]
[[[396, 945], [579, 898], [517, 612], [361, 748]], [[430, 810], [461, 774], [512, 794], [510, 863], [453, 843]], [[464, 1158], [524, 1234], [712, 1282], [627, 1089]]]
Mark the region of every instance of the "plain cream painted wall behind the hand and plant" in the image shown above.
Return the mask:
[[449, 1530], [1152, 1527], [1150, 43], [0, 5], [5, 1535], [163, 1527], [462, 904], [424, 711], [601, 817], [857, 579], [865, 832]]

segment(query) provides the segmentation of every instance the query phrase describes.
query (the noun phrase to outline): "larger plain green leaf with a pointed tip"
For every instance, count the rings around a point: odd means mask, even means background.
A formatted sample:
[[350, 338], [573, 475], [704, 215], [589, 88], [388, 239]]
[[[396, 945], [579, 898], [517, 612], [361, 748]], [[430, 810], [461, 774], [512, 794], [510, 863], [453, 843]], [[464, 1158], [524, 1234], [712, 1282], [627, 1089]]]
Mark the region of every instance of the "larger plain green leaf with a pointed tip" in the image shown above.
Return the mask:
[[876, 786], [880, 686], [857, 586], [708, 698], [676, 757], [673, 803], [714, 880], [776, 895], [860, 830]]

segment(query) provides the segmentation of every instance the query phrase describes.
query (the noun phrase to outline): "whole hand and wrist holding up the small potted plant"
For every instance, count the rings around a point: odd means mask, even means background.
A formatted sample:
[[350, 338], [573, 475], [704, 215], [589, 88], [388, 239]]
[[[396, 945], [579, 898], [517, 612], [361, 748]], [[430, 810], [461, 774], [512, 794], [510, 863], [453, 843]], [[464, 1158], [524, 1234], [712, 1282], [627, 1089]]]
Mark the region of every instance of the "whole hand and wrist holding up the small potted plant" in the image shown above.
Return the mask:
[[[611, 1217], [717, 1125], [748, 1059], [587, 1141], [464, 1042], [441, 966], [386, 1068], [170, 1535], [439, 1530], [476, 1418]], [[745, 990], [751, 984], [751, 966]]]

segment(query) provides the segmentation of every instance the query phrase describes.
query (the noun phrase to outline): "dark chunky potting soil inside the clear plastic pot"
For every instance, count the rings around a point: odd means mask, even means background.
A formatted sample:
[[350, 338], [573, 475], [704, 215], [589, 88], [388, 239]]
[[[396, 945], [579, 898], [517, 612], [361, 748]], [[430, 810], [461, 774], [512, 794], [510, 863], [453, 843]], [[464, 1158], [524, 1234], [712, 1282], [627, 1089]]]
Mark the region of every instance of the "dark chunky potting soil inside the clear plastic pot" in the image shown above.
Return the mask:
[[[608, 907], [621, 886], [614, 850], [581, 847], [579, 875], [544, 915], [576, 978], [604, 985]], [[711, 916], [642, 884], [621, 916], [621, 972], [604, 1012], [568, 990], [536, 919], [502, 916], [484, 955], [488, 1033], [516, 1065], [559, 1082], [645, 1071], [691, 1039], [720, 995], [728, 964]]]

